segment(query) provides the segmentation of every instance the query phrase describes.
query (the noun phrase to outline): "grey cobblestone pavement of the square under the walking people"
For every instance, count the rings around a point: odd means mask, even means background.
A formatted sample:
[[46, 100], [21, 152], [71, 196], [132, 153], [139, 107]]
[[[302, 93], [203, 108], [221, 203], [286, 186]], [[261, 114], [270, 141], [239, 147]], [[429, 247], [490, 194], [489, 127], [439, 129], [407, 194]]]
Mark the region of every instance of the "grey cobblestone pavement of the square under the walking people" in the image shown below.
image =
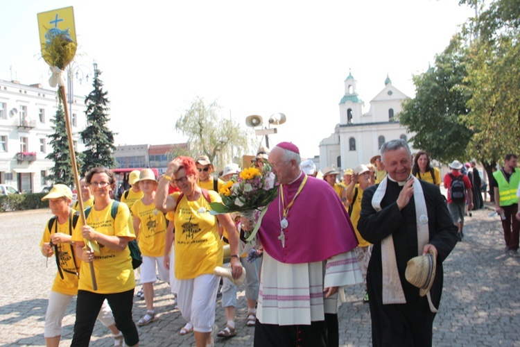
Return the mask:
[[[434, 346], [520, 346], [520, 258], [503, 252], [499, 217], [490, 210], [467, 217], [465, 238], [444, 262], [444, 294], [435, 318]], [[55, 276], [55, 262], [40, 253], [40, 238], [51, 212], [31, 210], [0, 214], [0, 346], [44, 346], [44, 316]], [[139, 286], [138, 286], [139, 288]], [[137, 290], [137, 289], [136, 289]], [[368, 305], [363, 304], [362, 285], [346, 289], [347, 302], [339, 312], [340, 344], [370, 346]], [[72, 301], [63, 321], [60, 346], [69, 346], [74, 323]], [[216, 323], [225, 325], [218, 299]], [[141, 346], [193, 346], [193, 334], [178, 335], [184, 325], [173, 307], [166, 283], [155, 285], [155, 308], [159, 320], [138, 328]], [[236, 312], [238, 335], [217, 339], [216, 346], [252, 346], [254, 328], [245, 326], [244, 292], [239, 291]], [[144, 300], [135, 299], [134, 319], [144, 315]], [[113, 346], [109, 330], [100, 323], [92, 346]]]

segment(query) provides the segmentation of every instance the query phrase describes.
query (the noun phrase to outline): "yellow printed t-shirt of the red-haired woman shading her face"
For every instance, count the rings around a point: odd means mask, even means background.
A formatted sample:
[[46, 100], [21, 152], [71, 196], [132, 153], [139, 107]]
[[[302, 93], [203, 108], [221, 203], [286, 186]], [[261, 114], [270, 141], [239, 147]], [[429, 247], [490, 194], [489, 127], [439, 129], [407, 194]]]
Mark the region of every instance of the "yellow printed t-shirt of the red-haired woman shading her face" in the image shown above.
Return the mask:
[[[209, 190], [208, 194], [212, 202], [222, 202], [218, 193]], [[179, 192], [171, 194], [175, 200], [179, 195]], [[179, 280], [213, 273], [215, 266], [222, 266], [223, 246], [218, 223], [209, 210], [209, 202], [203, 194], [196, 201], [188, 201], [183, 196], [175, 209], [175, 278]], [[168, 215], [168, 219], [172, 220], [172, 216]]]

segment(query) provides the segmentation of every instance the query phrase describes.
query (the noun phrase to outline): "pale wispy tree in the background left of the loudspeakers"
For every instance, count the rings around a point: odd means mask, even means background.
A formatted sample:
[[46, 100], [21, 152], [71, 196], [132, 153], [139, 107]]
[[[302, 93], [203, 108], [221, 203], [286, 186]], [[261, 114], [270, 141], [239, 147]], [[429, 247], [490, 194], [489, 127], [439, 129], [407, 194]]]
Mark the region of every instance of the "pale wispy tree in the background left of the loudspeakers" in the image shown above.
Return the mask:
[[241, 162], [241, 155], [250, 149], [251, 130], [241, 128], [233, 119], [220, 115], [216, 101], [206, 104], [200, 97], [175, 123], [175, 129], [187, 136], [189, 148], [175, 150], [175, 155], [207, 155], [216, 167]]

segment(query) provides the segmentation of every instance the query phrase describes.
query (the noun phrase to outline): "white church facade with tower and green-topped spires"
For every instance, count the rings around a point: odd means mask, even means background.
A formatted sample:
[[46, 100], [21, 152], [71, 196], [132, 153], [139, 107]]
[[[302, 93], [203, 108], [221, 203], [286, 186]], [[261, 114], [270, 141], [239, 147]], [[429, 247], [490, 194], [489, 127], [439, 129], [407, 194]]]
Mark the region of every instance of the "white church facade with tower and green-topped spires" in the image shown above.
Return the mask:
[[321, 169], [330, 166], [354, 169], [358, 164], [369, 163], [386, 141], [408, 140], [413, 135], [396, 119], [402, 110], [402, 101], [409, 98], [392, 85], [388, 76], [385, 87], [370, 101], [366, 113], [363, 113], [364, 103], [356, 92], [356, 84], [349, 74], [345, 79], [345, 94], [339, 103], [340, 123], [333, 134], [320, 142]]

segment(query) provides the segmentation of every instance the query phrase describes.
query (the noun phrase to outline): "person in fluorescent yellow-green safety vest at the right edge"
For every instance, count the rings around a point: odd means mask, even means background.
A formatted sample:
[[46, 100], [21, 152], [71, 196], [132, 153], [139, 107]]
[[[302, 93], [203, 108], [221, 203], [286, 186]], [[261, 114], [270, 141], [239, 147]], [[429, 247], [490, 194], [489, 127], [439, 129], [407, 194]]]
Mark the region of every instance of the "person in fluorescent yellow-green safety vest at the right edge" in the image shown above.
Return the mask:
[[517, 169], [517, 155], [506, 154], [504, 166], [493, 173], [495, 210], [501, 215], [504, 230], [505, 252], [518, 257], [520, 222], [516, 218], [518, 212], [517, 190], [520, 183], [520, 171]]

